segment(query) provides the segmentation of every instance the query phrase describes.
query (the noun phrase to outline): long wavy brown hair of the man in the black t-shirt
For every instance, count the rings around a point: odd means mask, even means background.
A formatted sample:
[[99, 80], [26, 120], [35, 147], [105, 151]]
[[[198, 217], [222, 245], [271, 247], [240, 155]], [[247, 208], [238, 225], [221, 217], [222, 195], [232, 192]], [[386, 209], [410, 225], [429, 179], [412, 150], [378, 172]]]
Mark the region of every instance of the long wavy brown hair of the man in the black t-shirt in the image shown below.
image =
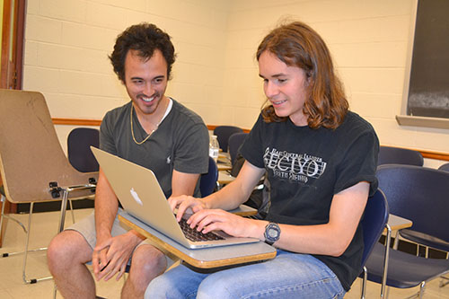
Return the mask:
[[[310, 82], [304, 103], [308, 126], [339, 127], [348, 113], [348, 100], [320, 35], [304, 22], [286, 23], [262, 40], [256, 54], [258, 60], [264, 51], [273, 53], [287, 66], [304, 70]], [[262, 117], [266, 122], [286, 120], [276, 115], [273, 105], [262, 110]]]

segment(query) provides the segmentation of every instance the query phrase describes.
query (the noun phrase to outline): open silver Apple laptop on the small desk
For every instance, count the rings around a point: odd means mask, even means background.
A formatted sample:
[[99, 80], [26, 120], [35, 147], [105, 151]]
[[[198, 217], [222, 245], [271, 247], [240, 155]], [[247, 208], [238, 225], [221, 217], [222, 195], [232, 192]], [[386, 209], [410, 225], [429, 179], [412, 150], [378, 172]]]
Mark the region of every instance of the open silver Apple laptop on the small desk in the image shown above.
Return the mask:
[[182, 232], [153, 171], [93, 146], [91, 149], [125, 211], [173, 241], [190, 249], [259, 242], [259, 239], [236, 238], [224, 232], [214, 232], [212, 239], [216, 240], [189, 240], [194, 238], [188, 239]]

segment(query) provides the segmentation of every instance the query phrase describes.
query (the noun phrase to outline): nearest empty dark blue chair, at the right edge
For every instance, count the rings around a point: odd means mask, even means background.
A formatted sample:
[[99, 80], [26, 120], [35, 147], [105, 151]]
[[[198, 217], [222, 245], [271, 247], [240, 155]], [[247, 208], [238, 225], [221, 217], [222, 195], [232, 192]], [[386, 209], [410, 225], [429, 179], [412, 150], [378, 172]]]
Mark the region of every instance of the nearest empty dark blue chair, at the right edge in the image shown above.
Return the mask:
[[[402, 235], [438, 248], [438, 239], [449, 241], [449, 173], [414, 165], [382, 165], [376, 176], [390, 207], [390, 213], [413, 222]], [[406, 232], [409, 232], [405, 234]], [[385, 250], [387, 250], [385, 252]], [[386, 258], [385, 258], [386, 257]], [[420, 286], [422, 296], [428, 281], [449, 272], [449, 260], [426, 259], [376, 244], [366, 262], [368, 280], [386, 286]], [[387, 269], [386, 277], [383, 268]], [[383, 295], [383, 293], [381, 294]]]

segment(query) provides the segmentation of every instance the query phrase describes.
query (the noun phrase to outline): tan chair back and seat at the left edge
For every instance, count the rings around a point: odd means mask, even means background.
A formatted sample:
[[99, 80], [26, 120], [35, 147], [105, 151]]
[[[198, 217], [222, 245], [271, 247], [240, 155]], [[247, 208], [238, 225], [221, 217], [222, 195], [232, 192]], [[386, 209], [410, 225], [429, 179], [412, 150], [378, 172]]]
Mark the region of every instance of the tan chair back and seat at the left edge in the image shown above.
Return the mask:
[[0, 171], [9, 201], [56, 200], [49, 182], [67, 187], [95, 177], [68, 163], [40, 92], [0, 90], [0, 111]]

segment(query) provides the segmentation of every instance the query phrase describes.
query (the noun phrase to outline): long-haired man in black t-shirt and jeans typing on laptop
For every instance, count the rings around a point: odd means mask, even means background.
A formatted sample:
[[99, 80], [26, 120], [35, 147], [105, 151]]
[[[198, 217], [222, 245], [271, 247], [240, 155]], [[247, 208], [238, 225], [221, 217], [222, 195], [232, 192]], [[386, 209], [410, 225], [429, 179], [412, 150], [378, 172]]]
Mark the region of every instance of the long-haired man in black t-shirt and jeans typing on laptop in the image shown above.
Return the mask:
[[[348, 110], [321, 37], [303, 22], [269, 32], [257, 50], [268, 98], [241, 148], [236, 180], [207, 198], [170, 198], [191, 227], [254, 237], [277, 248], [269, 261], [212, 274], [180, 265], [156, 277], [148, 298], [343, 298], [359, 274], [360, 219], [377, 189], [379, 141]], [[265, 219], [233, 215], [266, 173]]]

